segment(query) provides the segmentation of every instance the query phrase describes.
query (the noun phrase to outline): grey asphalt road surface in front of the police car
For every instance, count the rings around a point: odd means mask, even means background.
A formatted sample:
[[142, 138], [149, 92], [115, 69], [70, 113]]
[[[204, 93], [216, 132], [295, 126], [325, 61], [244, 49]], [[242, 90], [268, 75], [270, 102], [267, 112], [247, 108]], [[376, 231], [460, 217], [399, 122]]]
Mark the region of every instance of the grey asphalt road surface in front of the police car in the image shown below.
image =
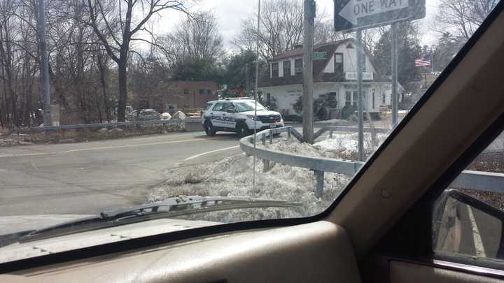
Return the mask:
[[237, 145], [232, 133], [196, 132], [0, 147], [0, 216], [94, 214], [144, 203], [167, 168], [220, 159], [239, 152]]

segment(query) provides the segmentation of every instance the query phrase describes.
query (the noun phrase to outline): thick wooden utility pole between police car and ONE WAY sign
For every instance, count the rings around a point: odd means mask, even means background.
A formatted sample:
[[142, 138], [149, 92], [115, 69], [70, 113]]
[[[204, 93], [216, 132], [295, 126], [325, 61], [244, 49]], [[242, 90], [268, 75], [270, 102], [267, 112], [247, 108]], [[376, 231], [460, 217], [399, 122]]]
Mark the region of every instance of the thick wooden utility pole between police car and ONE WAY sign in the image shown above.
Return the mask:
[[303, 45], [303, 140], [312, 144], [313, 138], [313, 56], [315, 1], [304, 0], [304, 45]]

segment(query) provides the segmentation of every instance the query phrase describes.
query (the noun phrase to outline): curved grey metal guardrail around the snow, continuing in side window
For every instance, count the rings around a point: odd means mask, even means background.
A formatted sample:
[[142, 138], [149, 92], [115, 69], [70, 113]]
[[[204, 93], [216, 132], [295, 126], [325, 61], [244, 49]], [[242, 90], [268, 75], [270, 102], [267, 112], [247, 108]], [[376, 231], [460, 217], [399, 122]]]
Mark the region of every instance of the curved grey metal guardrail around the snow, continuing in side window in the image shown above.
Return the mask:
[[[321, 136], [325, 131], [344, 131], [344, 128], [345, 127], [339, 126], [324, 126], [317, 132], [317, 134], [318, 136]], [[353, 129], [347, 130], [353, 132]], [[382, 131], [382, 129], [379, 129], [379, 131]], [[387, 132], [388, 131], [389, 129], [387, 129]], [[259, 133], [257, 133], [257, 138], [258, 140], [262, 141], [262, 145], [266, 145], [267, 142], [271, 145], [273, 143], [273, 136], [280, 133], [287, 133], [288, 138], [294, 136], [297, 140], [302, 142], [302, 135], [290, 126], [260, 131]], [[330, 136], [332, 135], [330, 134]], [[303, 157], [288, 152], [268, 150], [264, 147], [254, 147], [253, 142], [253, 136], [242, 138], [240, 140], [240, 148], [246, 154], [253, 155], [262, 159], [265, 168], [264, 170], [266, 171], [270, 168], [269, 162], [288, 164], [293, 167], [301, 167], [314, 170], [316, 177], [315, 192], [316, 196], [319, 197], [323, 195], [323, 182], [325, 172], [355, 175], [360, 167], [364, 164], [360, 161], [328, 159], [323, 157]], [[504, 174], [465, 170], [460, 175], [458, 175], [454, 182], [450, 184], [450, 187], [477, 191], [504, 192]]]

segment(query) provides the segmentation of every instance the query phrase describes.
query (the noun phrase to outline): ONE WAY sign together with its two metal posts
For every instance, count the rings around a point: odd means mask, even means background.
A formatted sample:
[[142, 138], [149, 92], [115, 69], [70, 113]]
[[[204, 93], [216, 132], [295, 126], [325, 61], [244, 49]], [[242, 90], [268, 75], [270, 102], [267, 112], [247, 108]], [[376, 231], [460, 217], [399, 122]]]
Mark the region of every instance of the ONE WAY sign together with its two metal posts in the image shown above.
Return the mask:
[[398, 71], [397, 22], [418, 20], [426, 15], [426, 0], [335, 0], [335, 31], [356, 31], [357, 89], [358, 89], [358, 156], [364, 161], [363, 147], [363, 44], [362, 30], [392, 24], [392, 122], [397, 124]]

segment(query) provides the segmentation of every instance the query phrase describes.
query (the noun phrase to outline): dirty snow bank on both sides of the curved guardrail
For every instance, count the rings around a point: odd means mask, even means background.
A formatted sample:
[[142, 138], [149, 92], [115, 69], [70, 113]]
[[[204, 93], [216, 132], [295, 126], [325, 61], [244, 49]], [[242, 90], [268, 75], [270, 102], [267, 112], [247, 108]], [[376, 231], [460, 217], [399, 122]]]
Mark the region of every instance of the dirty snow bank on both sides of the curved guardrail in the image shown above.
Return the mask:
[[[278, 138], [273, 145], [267, 143], [268, 150], [290, 152], [306, 157], [325, 157], [332, 159], [356, 159], [357, 133], [334, 133], [332, 139], [322, 140], [314, 145], [300, 143], [295, 138]], [[379, 143], [386, 135], [377, 135]], [[365, 134], [365, 150], [372, 151], [370, 133]], [[324, 194], [316, 198], [314, 173], [306, 168], [273, 164], [263, 172], [262, 161], [256, 164], [256, 185], [252, 187], [253, 157], [237, 154], [211, 164], [174, 168], [165, 172], [167, 181], [153, 189], [146, 197], [148, 203], [163, 201], [172, 196], [249, 196], [281, 201], [302, 203], [302, 208], [246, 209], [211, 212], [190, 215], [184, 219], [200, 219], [214, 222], [239, 222], [256, 219], [285, 217], [304, 217], [322, 212], [335, 200], [348, 184], [351, 176], [325, 173]]]

